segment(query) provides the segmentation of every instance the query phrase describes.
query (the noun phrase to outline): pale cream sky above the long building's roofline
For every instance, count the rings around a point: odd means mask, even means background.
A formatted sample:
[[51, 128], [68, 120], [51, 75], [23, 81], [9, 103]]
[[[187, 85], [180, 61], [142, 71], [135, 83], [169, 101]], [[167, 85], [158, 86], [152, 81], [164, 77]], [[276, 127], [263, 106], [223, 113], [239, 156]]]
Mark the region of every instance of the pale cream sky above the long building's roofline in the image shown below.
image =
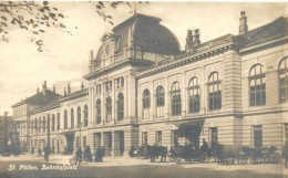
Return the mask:
[[[11, 105], [34, 95], [43, 81], [51, 90], [55, 85], [60, 94], [63, 94], [68, 83], [71, 83], [72, 91], [80, 90], [81, 82], [88, 85], [82, 76], [89, 73], [90, 51], [96, 54], [102, 35], [111, 32], [113, 25], [97, 15], [93, 3], [74, 1], [51, 4], [68, 17], [64, 23], [72, 35], [61, 29], [47, 29], [40, 36], [47, 51], [40, 53], [30, 42], [34, 38], [31, 33], [10, 29], [9, 43], [0, 41], [0, 115], [3, 112], [12, 115]], [[281, 15], [287, 17], [287, 4], [162, 1], [133, 7], [137, 13], [161, 18], [161, 23], [177, 36], [183, 50], [187, 30], [199, 29], [202, 42], [228, 33], [238, 34], [240, 11], [246, 11], [248, 29], [251, 30]], [[106, 11], [112, 14], [114, 24], [132, 15], [127, 6]]]

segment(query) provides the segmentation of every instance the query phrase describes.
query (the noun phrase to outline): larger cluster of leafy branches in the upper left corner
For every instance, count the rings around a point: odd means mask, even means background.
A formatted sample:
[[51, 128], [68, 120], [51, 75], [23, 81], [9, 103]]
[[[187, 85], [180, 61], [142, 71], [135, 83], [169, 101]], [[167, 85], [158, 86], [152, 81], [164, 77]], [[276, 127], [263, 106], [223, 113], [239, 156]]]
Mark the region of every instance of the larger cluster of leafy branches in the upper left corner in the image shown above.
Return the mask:
[[[48, 1], [1, 1], [0, 2], [0, 35], [1, 40], [9, 42], [9, 30], [17, 27], [31, 32], [33, 35], [45, 33], [47, 28], [66, 29], [61, 19], [64, 14], [58, 12], [58, 8], [50, 6]], [[65, 32], [70, 33], [65, 30]], [[39, 38], [31, 40], [42, 52], [43, 41]]]

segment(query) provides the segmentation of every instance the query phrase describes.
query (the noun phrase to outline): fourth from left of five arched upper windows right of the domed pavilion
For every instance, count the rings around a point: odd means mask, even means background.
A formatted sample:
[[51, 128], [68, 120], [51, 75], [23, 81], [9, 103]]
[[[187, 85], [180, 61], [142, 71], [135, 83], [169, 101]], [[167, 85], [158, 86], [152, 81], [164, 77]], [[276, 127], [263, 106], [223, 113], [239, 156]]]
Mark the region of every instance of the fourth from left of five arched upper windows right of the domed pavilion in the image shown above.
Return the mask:
[[189, 113], [198, 113], [200, 108], [200, 96], [198, 78], [193, 77], [188, 84]]

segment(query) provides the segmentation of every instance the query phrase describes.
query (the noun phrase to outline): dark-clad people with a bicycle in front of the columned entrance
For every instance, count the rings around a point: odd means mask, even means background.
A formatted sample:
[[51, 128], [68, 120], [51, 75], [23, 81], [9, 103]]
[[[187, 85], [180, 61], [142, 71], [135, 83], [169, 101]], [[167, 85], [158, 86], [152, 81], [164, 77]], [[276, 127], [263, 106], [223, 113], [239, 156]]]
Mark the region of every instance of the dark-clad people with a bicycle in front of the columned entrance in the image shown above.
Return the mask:
[[[105, 155], [105, 148], [97, 147], [95, 150], [95, 154], [94, 154], [94, 161], [102, 163], [104, 155]], [[81, 147], [78, 147], [76, 153], [75, 153], [75, 164], [80, 165], [82, 157], [84, 159], [86, 159], [88, 161], [93, 161], [91, 148], [89, 145], [84, 148], [84, 151], [82, 151]]]

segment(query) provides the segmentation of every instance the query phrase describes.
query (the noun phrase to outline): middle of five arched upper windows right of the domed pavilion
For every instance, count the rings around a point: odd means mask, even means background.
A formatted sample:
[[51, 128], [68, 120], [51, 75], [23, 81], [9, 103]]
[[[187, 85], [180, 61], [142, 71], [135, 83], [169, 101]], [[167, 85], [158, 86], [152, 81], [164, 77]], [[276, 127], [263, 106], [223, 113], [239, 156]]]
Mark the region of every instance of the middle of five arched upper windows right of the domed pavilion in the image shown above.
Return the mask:
[[171, 115], [181, 115], [182, 103], [181, 103], [181, 88], [179, 83], [174, 82], [171, 90]]

